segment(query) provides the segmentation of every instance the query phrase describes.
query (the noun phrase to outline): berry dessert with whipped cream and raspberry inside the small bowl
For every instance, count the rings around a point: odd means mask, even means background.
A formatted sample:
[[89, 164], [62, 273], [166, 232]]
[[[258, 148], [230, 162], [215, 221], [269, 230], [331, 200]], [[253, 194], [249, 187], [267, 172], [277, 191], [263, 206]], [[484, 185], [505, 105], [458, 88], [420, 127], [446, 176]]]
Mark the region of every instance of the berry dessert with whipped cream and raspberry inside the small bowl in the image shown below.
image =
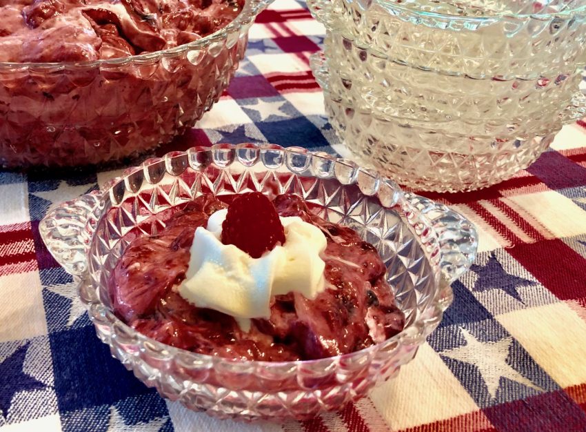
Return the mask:
[[403, 329], [386, 268], [351, 228], [296, 195], [227, 206], [203, 195], [161, 233], [138, 237], [112, 271], [114, 312], [137, 331], [196, 353], [311, 360]]

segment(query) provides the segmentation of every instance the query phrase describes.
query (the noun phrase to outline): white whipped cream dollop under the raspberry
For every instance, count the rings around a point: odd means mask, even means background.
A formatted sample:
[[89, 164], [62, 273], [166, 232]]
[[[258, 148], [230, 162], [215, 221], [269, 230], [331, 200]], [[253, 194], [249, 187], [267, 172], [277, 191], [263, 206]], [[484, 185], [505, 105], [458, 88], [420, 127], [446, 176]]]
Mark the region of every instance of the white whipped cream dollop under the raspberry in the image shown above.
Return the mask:
[[220, 240], [228, 210], [218, 210], [195, 230], [179, 295], [200, 308], [232, 315], [244, 331], [250, 318], [269, 318], [274, 295], [301, 293], [314, 299], [325, 289], [322, 231], [300, 217], [281, 217], [285, 244], [253, 258]]

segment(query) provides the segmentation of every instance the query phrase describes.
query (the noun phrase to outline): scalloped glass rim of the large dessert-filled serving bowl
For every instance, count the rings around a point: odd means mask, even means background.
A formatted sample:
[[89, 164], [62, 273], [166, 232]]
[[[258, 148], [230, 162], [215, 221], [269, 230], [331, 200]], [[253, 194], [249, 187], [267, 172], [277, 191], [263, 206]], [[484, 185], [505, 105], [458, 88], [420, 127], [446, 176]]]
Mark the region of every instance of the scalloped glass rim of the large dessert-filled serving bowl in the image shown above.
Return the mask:
[[254, 21], [256, 15], [270, 5], [274, 0], [245, 0], [244, 7], [236, 18], [234, 18], [225, 27], [216, 30], [211, 35], [183, 43], [179, 46], [166, 48], [165, 50], [158, 50], [152, 52], [145, 52], [139, 55], [130, 55], [127, 57], [117, 57], [114, 59], [97, 59], [88, 61], [61, 61], [61, 62], [10, 62], [0, 61], [0, 71], [3, 69], [23, 69], [23, 68], [39, 68], [50, 69], [52, 71], [59, 71], [63, 69], [78, 70], [86, 68], [97, 68], [99, 66], [126, 66], [129, 63], [148, 63], [150, 61], [159, 61], [163, 58], [172, 58], [182, 55], [184, 52], [205, 48], [213, 42], [227, 39], [228, 35], [234, 31], [239, 31], [242, 26]]

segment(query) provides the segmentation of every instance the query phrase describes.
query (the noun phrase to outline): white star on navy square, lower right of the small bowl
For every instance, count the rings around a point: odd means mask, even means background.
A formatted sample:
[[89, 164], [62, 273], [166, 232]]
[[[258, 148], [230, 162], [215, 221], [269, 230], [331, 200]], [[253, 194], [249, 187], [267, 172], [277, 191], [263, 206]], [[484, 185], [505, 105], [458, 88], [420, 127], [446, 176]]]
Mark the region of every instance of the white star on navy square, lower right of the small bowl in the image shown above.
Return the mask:
[[533, 382], [527, 380], [527, 378], [507, 363], [509, 346], [513, 342], [512, 337], [505, 337], [505, 339], [496, 342], [483, 343], [477, 340], [465, 328], [461, 328], [461, 331], [466, 344], [464, 346], [458, 346], [458, 348], [443, 351], [440, 355], [445, 355], [445, 357], [458, 360], [459, 362], [476, 366], [492, 398], [496, 397], [496, 391], [501, 385], [501, 377], [508, 378], [531, 389], [543, 391], [543, 389], [540, 389]]

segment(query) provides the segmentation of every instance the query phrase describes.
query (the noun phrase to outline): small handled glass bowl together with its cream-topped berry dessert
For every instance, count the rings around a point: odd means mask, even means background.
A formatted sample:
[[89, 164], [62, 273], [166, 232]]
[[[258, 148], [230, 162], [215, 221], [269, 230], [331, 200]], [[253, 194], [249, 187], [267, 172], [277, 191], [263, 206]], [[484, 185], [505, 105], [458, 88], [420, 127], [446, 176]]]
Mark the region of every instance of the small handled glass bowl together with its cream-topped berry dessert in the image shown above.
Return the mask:
[[163, 397], [243, 420], [311, 418], [396, 375], [477, 246], [442, 204], [269, 144], [149, 159], [39, 230], [114, 357]]

